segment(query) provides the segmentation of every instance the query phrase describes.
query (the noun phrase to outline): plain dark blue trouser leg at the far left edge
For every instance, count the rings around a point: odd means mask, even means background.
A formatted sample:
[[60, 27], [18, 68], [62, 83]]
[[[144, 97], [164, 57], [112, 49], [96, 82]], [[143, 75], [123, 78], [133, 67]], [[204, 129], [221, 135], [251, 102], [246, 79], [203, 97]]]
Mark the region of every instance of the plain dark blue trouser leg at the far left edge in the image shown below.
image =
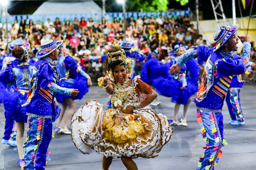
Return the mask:
[[12, 118], [12, 112], [10, 110], [10, 106], [8, 103], [4, 103], [4, 117], [5, 117], [5, 126], [4, 126], [4, 137], [3, 139], [9, 140], [10, 136], [12, 135], [12, 140], [16, 140], [14, 136], [16, 136], [15, 133], [15, 125], [14, 120]]

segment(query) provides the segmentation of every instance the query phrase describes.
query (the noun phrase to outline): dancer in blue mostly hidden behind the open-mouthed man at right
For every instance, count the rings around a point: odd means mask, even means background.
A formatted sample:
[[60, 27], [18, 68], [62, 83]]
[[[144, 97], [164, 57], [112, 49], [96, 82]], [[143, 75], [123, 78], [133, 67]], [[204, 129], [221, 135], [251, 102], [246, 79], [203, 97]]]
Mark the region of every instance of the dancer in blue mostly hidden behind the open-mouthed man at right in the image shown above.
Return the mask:
[[[236, 59], [240, 59], [241, 57], [237, 54], [233, 54], [233, 57]], [[256, 64], [251, 62], [251, 67], [256, 69]], [[240, 104], [240, 90], [242, 90], [244, 85], [244, 80], [242, 80], [242, 75], [234, 75], [230, 84], [230, 88], [228, 89], [226, 102], [228, 105], [229, 115], [231, 120], [229, 124], [231, 125], [244, 125], [244, 114], [241, 109]]]

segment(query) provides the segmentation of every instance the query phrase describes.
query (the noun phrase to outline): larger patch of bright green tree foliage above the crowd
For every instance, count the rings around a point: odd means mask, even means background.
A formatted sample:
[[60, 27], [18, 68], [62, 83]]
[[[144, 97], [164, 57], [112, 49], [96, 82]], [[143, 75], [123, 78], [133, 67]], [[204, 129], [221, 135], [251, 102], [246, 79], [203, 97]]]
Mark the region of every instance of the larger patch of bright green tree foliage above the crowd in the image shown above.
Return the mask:
[[131, 0], [126, 1], [128, 11], [152, 12], [167, 11], [169, 0]]

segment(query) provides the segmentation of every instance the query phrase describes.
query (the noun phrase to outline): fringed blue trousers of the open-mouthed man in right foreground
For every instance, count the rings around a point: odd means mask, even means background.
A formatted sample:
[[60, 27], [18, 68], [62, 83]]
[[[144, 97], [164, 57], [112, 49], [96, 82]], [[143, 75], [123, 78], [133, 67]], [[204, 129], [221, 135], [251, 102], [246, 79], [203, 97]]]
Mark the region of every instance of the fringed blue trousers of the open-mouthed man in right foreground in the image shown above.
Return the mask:
[[206, 146], [203, 157], [198, 162], [196, 170], [212, 170], [217, 165], [222, 156], [223, 144], [227, 145], [223, 139], [223, 116], [221, 112], [214, 113], [211, 111], [198, 110], [197, 121], [203, 132], [203, 138]]

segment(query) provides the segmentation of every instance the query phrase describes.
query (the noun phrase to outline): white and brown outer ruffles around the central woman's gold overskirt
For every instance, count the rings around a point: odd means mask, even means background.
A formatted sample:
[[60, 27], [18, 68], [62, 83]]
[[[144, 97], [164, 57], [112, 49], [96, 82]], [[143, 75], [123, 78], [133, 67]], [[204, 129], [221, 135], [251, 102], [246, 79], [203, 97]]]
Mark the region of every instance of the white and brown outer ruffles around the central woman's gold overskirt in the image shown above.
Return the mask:
[[71, 118], [71, 138], [76, 149], [84, 154], [89, 154], [93, 149], [106, 157], [113, 158], [158, 156], [157, 153], [170, 140], [173, 133], [169, 120], [150, 108], [133, 110], [133, 112], [146, 134], [137, 135], [136, 138], [129, 139], [123, 144], [117, 144], [102, 137], [105, 114], [102, 104], [95, 100], [84, 103]]

